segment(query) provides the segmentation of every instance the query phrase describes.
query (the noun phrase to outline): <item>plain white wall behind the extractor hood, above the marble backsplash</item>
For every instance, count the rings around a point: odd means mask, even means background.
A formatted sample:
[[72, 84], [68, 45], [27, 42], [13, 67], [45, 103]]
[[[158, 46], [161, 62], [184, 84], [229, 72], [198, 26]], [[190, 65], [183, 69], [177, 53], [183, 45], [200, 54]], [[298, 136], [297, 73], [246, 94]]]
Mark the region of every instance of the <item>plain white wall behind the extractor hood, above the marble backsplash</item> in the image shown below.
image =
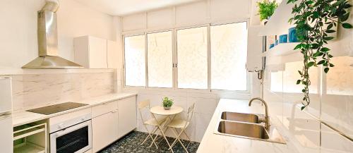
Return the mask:
[[[116, 39], [113, 17], [73, 0], [59, 0], [59, 55], [73, 61], [73, 37]], [[0, 68], [20, 68], [38, 55], [37, 11], [44, 0], [0, 1]]]

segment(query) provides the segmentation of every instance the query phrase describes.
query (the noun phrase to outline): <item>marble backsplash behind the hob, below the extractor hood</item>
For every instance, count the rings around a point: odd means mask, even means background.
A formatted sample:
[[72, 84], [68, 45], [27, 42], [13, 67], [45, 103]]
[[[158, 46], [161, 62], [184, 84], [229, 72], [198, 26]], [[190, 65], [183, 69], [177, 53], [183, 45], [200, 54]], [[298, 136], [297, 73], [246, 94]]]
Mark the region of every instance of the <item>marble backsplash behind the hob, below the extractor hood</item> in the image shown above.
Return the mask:
[[116, 91], [116, 73], [114, 71], [6, 76], [12, 78], [13, 111], [59, 102], [75, 102]]

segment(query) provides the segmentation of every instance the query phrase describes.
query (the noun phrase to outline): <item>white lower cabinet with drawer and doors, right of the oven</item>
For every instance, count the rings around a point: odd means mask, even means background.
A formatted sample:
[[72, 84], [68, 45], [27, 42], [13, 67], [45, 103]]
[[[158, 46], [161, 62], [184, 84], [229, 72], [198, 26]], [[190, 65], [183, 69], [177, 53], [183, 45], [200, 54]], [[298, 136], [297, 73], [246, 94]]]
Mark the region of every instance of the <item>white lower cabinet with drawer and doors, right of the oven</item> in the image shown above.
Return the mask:
[[135, 128], [136, 96], [93, 106], [92, 152], [100, 151]]

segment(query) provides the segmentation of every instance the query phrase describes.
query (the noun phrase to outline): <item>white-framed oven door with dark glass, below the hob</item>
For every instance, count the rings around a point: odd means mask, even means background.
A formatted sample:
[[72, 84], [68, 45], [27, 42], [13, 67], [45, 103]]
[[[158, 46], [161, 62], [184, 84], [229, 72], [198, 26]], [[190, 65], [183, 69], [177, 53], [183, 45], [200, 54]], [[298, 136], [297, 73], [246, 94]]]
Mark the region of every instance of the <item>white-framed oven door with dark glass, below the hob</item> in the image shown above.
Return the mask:
[[50, 152], [83, 153], [92, 148], [91, 121], [50, 134]]

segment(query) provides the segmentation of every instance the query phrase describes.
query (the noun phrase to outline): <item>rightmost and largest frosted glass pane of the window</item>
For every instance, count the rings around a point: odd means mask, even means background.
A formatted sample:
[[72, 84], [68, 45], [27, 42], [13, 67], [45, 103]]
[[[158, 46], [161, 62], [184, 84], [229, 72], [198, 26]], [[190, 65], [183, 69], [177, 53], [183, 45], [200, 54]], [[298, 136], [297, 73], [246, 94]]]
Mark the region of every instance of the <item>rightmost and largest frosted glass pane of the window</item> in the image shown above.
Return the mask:
[[246, 90], [246, 23], [215, 25], [211, 35], [211, 88]]

